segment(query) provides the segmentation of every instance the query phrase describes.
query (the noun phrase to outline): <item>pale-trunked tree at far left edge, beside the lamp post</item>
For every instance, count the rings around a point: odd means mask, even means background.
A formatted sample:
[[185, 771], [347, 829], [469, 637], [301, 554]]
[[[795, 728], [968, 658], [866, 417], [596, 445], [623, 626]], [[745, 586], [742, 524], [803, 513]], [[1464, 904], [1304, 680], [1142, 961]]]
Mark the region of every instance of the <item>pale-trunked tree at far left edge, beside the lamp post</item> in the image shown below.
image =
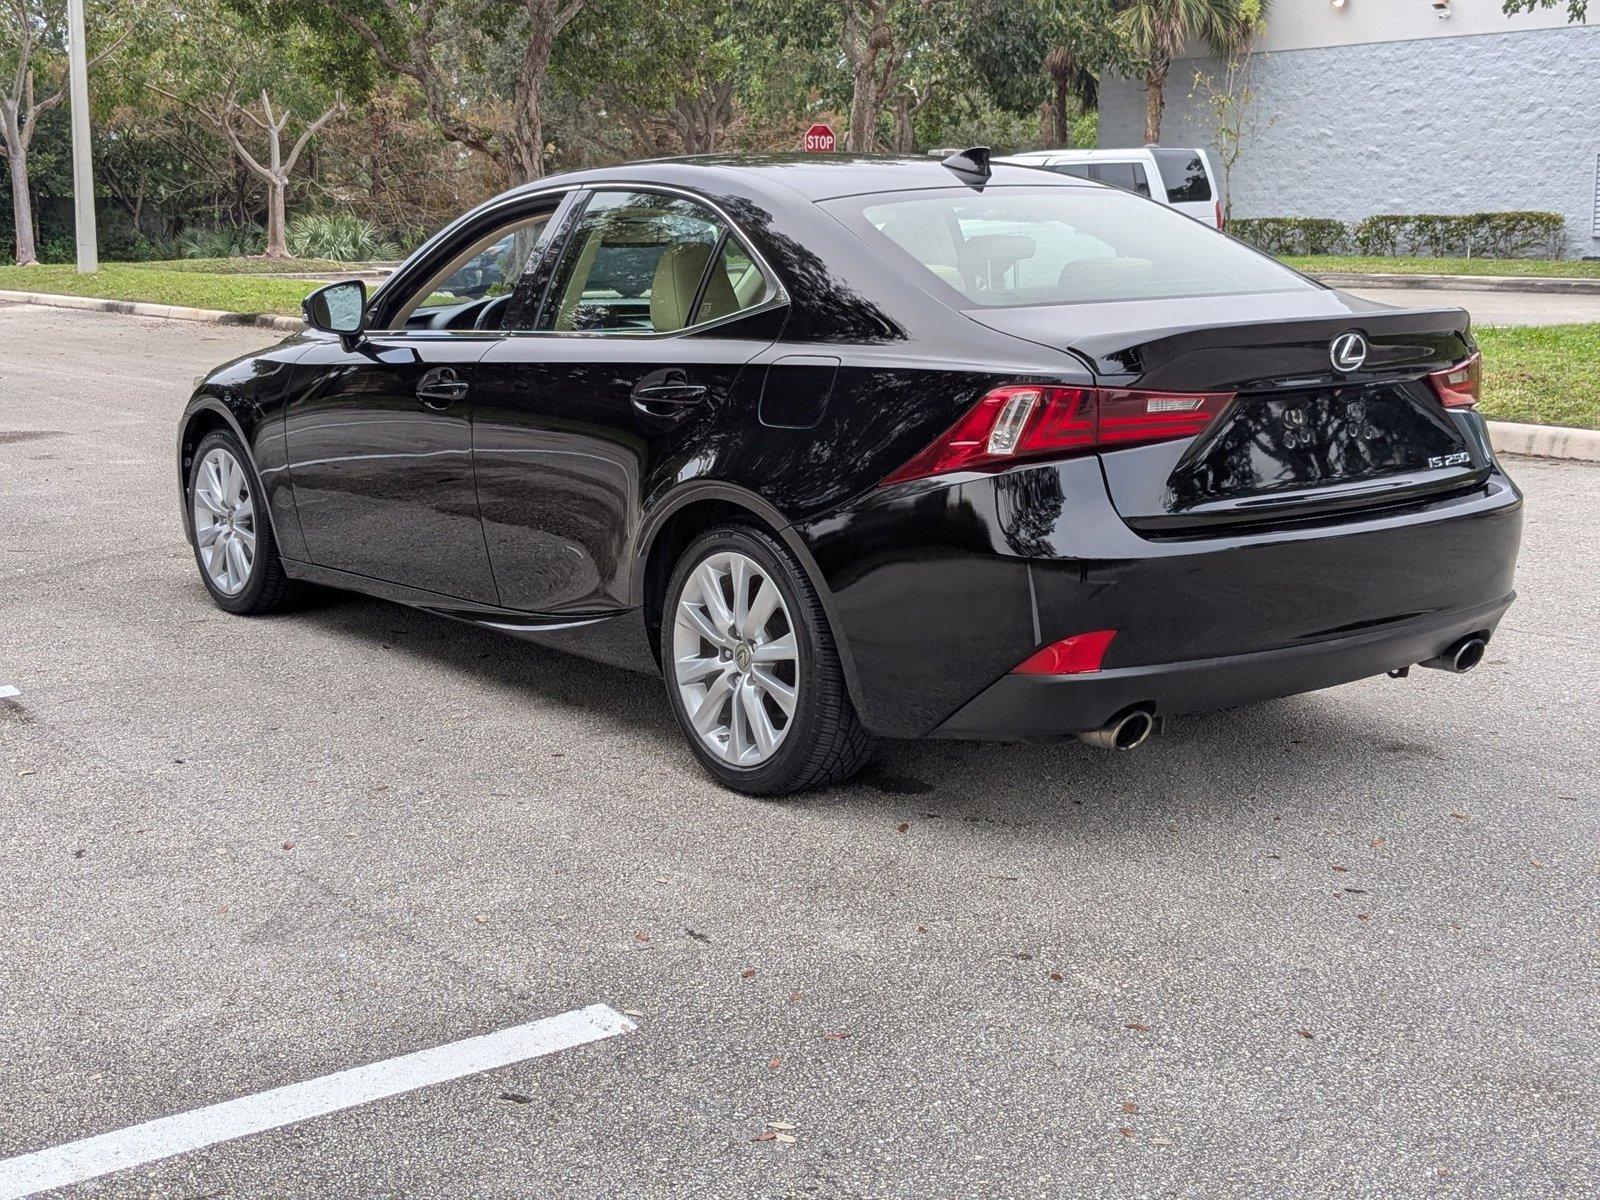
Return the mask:
[[[40, 0], [6, 0], [5, 24], [0, 26], [0, 158], [11, 176], [11, 218], [16, 222], [16, 264], [38, 262], [34, 242], [34, 198], [29, 190], [27, 152], [38, 130], [38, 118], [67, 98], [66, 13], [61, 5]], [[122, 46], [126, 34], [117, 34], [90, 56], [93, 67]], [[54, 90], [38, 96], [40, 67], [50, 72]]]

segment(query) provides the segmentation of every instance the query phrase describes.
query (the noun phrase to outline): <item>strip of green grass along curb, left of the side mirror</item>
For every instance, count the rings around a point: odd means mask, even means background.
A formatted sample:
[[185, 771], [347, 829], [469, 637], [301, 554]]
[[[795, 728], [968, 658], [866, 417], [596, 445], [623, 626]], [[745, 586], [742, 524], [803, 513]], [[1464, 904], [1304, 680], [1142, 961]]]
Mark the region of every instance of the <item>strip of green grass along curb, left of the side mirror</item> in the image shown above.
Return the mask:
[[[165, 264], [163, 264], [165, 266]], [[222, 312], [274, 312], [298, 317], [315, 280], [171, 270], [144, 262], [104, 262], [93, 275], [75, 267], [0, 267], [0, 291], [182, 304]]]

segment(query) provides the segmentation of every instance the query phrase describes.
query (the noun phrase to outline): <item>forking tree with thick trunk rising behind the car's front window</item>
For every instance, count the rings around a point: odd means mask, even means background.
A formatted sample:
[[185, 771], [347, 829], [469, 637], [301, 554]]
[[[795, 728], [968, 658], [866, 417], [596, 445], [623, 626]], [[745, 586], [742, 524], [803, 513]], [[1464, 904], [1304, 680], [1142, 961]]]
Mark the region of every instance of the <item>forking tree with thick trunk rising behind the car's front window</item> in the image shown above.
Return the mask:
[[[427, 115], [450, 141], [490, 155], [510, 182], [544, 174], [544, 83], [555, 38], [587, 0], [309, 0], [349, 29], [378, 64], [416, 82]], [[315, 21], [304, 3], [290, 3]], [[326, 21], [318, 22], [331, 32]], [[499, 118], [462, 85], [462, 46], [515, 51], [509, 112]], [[480, 46], [472, 46], [478, 50]]]

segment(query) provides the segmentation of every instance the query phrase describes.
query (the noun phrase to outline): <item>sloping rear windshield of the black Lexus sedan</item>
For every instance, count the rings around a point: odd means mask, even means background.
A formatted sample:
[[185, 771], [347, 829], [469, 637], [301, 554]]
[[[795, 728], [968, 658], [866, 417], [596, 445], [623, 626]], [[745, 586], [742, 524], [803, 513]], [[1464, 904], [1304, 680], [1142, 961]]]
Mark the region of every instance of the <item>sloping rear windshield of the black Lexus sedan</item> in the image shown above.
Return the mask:
[[1174, 299], [1317, 285], [1181, 213], [1109, 187], [938, 189], [824, 205], [955, 307]]

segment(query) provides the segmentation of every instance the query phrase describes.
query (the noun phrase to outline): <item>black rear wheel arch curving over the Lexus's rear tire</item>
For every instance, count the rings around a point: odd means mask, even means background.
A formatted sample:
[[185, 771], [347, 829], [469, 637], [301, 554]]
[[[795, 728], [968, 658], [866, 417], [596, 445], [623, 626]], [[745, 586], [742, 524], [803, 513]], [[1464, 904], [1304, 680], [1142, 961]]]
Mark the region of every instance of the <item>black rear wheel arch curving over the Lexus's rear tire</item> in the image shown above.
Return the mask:
[[688, 483], [656, 504], [640, 528], [629, 600], [643, 613], [650, 648], [656, 654], [658, 666], [661, 662], [661, 606], [666, 600], [672, 568], [694, 538], [714, 525], [723, 523], [744, 523], [763, 530], [781, 541], [800, 563], [800, 570], [805, 571], [822, 602], [822, 611], [827, 614], [827, 624], [834, 634], [834, 645], [838, 648], [838, 661], [845, 672], [850, 698], [859, 706], [861, 694], [856, 682], [856, 664], [850, 653], [850, 637], [840, 626], [834, 594], [829, 590], [816, 558], [811, 557], [810, 547], [782, 512], [749, 488], [733, 483], [714, 480]]

